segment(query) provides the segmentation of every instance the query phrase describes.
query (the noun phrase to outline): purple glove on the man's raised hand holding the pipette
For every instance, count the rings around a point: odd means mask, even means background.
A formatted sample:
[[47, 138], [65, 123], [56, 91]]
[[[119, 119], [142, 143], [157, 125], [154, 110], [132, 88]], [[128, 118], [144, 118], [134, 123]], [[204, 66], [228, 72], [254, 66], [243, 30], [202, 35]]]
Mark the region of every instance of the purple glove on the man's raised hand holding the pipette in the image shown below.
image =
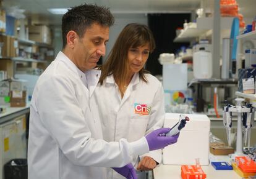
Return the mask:
[[153, 130], [152, 132], [148, 133], [148, 135], [146, 135], [150, 151], [161, 149], [177, 142], [179, 133], [174, 136], [165, 136], [165, 134], [168, 133], [170, 130], [170, 128], [160, 128]]

